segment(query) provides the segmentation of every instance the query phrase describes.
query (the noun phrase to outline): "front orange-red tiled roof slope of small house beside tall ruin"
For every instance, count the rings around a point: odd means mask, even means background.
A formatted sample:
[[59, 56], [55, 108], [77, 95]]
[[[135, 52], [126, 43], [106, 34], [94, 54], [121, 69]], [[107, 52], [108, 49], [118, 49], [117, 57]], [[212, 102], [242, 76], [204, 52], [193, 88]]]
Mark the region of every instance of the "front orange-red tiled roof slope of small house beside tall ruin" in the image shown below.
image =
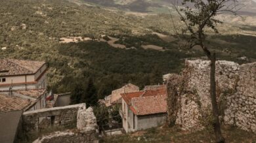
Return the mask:
[[135, 97], [131, 99], [131, 110], [136, 115], [148, 115], [167, 112], [166, 95]]

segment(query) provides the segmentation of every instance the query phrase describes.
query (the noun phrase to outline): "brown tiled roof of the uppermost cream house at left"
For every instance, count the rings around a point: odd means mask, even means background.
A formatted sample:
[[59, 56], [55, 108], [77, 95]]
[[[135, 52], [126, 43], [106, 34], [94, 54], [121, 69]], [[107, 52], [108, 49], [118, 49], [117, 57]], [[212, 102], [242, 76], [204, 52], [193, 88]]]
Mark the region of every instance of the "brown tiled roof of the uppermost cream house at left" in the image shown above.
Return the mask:
[[44, 64], [44, 61], [0, 59], [0, 76], [34, 74]]

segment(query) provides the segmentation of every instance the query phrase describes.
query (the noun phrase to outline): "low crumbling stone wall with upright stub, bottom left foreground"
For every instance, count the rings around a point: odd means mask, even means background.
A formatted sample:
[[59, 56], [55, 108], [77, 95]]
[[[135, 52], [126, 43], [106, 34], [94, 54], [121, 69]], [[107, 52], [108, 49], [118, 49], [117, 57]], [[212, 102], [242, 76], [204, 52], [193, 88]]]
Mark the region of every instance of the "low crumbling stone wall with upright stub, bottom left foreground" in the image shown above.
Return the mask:
[[63, 143], [63, 142], [98, 142], [98, 125], [93, 114], [93, 108], [81, 108], [77, 112], [77, 129], [58, 131], [51, 135], [37, 138], [33, 143]]

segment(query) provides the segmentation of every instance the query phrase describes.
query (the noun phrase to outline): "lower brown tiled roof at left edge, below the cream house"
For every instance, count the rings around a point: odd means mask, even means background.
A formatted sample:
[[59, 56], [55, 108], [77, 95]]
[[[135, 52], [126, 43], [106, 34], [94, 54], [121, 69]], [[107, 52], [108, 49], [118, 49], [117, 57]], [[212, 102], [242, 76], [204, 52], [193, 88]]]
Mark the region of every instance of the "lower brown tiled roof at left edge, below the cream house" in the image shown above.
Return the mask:
[[31, 103], [32, 102], [28, 99], [0, 95], [0, 113], [10, 112], [12, 110], [23, 110], [30, 106]]

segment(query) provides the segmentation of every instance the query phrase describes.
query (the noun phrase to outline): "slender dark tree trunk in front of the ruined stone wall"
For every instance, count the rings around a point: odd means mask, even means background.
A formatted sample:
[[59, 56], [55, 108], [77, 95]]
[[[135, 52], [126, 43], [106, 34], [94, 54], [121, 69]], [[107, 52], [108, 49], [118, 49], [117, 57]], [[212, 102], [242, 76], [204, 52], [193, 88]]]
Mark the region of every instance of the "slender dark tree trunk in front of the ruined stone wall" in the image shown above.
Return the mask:
[[211, 55], [211, 73], [210, 73], [210, 94], [211, 94], [211, 104], [213, 107], [213, 129], [215, 133], [215, 140], [218, 143], [225, 142], [223, 136], [221, 135], [221, 125], [219, 123], [219, 109], [216, 98], [216, 81], [215, 81], [215, 53]]

